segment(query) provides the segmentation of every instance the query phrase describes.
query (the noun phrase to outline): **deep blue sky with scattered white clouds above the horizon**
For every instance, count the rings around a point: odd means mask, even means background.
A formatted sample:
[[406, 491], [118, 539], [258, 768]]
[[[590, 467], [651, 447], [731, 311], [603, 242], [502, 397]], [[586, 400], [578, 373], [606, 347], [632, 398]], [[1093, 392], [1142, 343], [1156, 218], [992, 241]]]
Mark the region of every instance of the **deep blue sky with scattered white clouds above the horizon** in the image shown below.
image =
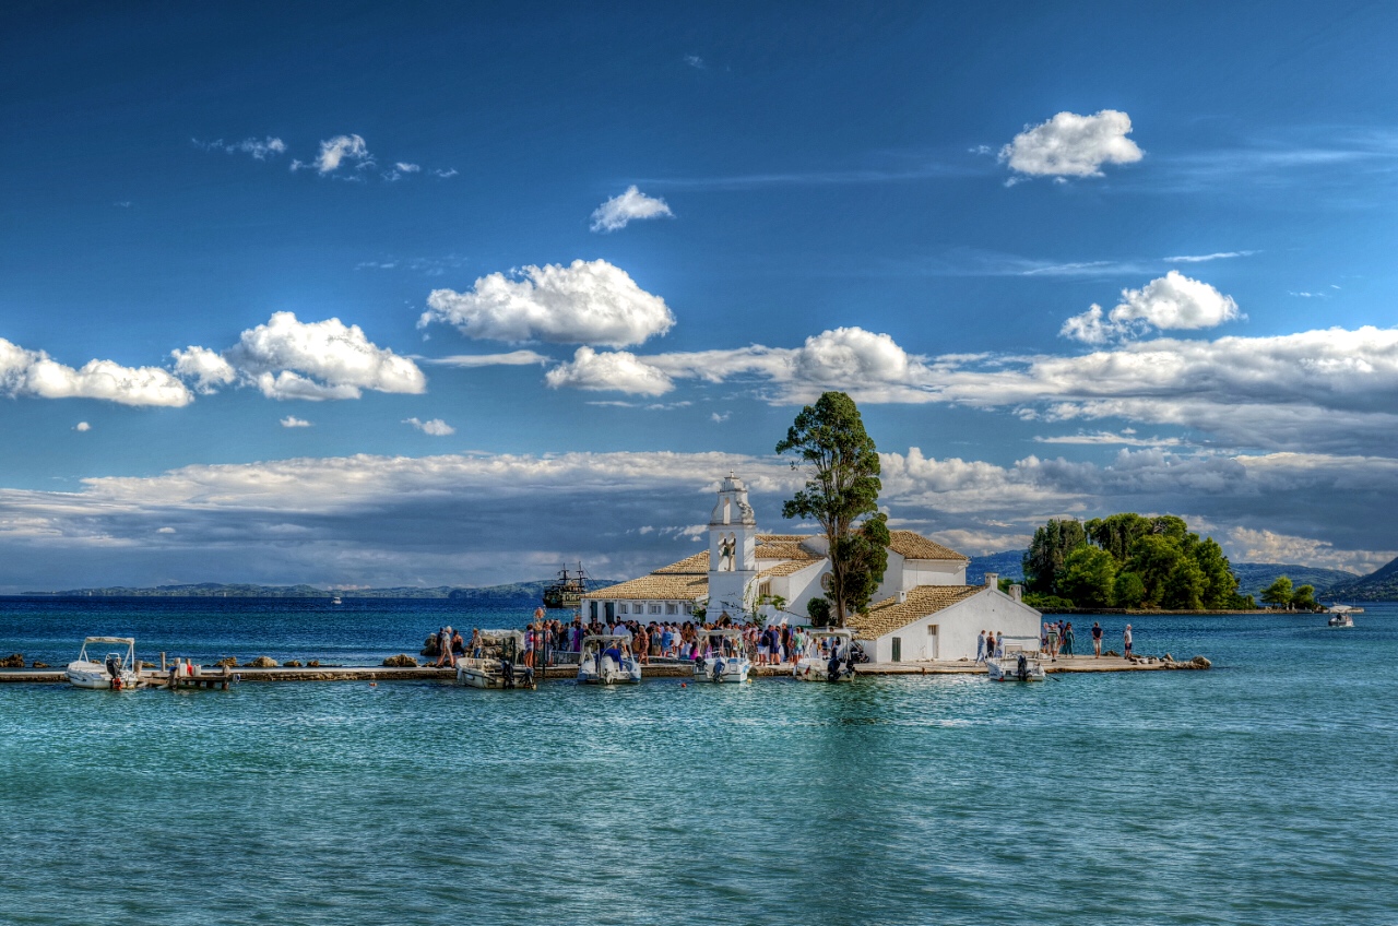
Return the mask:
[[624, 575], [822, 389], [967, 553], [1395, 555], [1398, 10], [749, 6], [7, 7], [0, 587]]

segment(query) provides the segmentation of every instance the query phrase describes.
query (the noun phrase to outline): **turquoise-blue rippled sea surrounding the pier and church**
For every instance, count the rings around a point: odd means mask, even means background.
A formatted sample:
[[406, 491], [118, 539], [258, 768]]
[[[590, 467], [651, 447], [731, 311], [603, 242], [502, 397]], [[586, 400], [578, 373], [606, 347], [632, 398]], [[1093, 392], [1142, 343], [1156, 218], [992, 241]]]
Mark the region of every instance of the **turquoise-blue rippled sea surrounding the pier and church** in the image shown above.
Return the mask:
[[[0, 650], [377, 662], [432, 601], [0, 601]], [[1109, 641], [1124, 621], [1103, 618]], [[1211, 671], [0, 685], [4, 923], [1392, 923], [1398, 607], [1132, 618]], [[1090, 620], [1081, 627], [1090, 627]], [[1079, 634], [1079, 639], [1086, 635]]]

